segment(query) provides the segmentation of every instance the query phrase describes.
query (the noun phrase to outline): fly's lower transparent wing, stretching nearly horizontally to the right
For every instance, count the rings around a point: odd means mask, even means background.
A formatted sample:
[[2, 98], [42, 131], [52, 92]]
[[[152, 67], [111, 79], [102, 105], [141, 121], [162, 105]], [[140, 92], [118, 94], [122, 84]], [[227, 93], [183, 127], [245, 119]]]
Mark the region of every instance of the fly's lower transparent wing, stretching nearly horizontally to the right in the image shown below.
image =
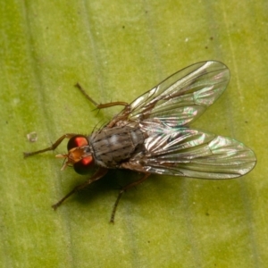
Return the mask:
[[145, 147], [130, 163], [157, 174], [231, 179], [250, 172], [256, 162], [253, 151], [239, 141], [188, 128], [155, 128]]

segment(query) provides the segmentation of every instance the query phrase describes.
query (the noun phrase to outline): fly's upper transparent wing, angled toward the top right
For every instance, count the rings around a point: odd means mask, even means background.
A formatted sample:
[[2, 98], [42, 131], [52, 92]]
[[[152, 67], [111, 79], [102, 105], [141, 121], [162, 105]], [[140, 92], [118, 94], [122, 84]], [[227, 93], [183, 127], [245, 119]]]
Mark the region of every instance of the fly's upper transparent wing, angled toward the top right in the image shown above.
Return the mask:
[[175, 127], [197, 119], [222, 95], [230, 71], [219, 62], [196, 63], [163, 80], [130, 104], [130, 121], [162, 121]]

